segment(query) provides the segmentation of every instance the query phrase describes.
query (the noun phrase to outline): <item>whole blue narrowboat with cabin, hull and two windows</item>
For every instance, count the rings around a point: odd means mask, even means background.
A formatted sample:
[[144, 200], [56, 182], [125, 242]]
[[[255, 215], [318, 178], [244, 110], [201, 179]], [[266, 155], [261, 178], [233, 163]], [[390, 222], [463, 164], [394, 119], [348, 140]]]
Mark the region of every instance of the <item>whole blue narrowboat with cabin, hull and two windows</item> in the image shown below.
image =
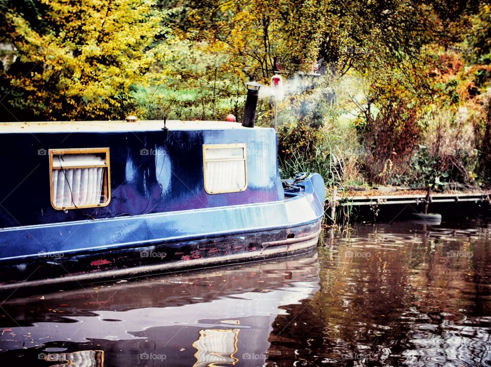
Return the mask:
[[281, 181], [255, 108], [242, 124], [0, 124], [0, 290], [315, 249], [324, 181]]

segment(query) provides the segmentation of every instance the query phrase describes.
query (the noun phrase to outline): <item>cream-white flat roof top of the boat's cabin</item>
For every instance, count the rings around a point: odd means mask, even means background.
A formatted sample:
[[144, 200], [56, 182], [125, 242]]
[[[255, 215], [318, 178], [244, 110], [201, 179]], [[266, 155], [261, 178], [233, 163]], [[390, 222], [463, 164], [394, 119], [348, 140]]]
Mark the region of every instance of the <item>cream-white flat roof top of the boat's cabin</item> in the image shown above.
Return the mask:
[[[0, 123], [0, 134], [5, 133], [100, 133], [161, 131], [164, 120], [152, 121], [50, 121], [28, 123]], [[244, 128], [240, 123], [228, 121], [167, 120], [169, 130], [231, 130]]]

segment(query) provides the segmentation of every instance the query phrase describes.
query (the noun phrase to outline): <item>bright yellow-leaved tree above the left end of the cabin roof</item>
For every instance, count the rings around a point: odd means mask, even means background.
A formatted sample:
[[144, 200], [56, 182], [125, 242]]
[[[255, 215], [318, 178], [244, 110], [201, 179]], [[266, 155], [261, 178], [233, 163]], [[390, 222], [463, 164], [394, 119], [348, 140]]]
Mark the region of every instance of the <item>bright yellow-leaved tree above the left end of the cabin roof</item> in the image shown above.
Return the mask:
[[16, 60], [1, 73], [4, 107], [23, 111], [19, 120], [114, 119], [135, 111], [132, 86], [162, 81], [169, 70], [156, 65], [180, 43], [163, 25], [165, 12], [152, 5], [39, 0], [42, 22], [8, 10], [0, 26]]

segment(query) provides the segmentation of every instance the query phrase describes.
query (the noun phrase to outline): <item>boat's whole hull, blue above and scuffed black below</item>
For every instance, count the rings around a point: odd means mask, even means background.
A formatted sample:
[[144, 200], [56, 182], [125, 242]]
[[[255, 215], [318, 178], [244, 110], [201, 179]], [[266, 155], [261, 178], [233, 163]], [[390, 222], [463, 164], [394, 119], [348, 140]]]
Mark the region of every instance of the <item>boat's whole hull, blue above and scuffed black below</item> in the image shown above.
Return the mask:
[[5, 228], [0, 290], [284, 257], [315, 249], [324, 213], [317, 174], [285, 200]]

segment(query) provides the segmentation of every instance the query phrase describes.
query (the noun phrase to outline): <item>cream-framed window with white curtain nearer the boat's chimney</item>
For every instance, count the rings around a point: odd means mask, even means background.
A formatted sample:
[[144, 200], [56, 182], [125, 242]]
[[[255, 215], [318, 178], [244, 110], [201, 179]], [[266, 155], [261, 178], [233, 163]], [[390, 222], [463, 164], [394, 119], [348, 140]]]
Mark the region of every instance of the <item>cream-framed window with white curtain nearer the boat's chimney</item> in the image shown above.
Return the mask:
[[245, 144], [203, 145], [205, 191], [244, 191], [247, 188]]

